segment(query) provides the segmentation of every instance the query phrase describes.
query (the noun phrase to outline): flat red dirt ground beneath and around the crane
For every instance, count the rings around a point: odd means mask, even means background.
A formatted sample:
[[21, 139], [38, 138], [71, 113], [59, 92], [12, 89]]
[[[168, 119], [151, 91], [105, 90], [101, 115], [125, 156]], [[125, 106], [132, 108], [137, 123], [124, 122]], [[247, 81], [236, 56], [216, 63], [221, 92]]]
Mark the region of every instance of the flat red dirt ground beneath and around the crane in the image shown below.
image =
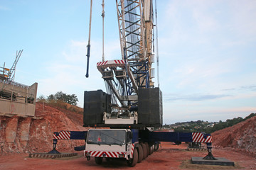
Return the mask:
[[102, 165], [95, 164], [94, 159], [87, 161], [82, 157], [63, 159], [38, 159], [28, 158], [28, 154], [16, 154], [2, 156], [0, 169], [256, 169], [256, 159], [245, 154], [213, 150], [215, 157], [225, 157], [235, 162], [235, 166], [209, 166], [195, 165], [189, 161], [191, 157], [204, 157], [206, 152], [186, 151], [186, 144], [172, 145], [171, 142], [163, 142], [157, 152], [149, 155], [142, 163], [130, 168], [123, 160], [103, 161]]

